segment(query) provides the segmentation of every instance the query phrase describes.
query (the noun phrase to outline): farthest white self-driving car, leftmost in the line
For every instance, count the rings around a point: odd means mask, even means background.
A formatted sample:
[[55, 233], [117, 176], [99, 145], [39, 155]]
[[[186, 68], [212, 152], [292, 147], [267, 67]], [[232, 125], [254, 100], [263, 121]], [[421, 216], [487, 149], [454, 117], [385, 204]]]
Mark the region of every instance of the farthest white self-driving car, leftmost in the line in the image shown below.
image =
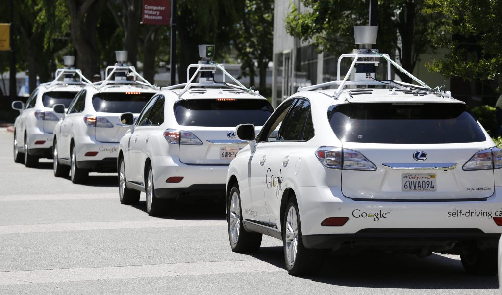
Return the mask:
[[87, 80], [79, 69], [73, 68], [73, 56], [65, 56], [65, 68], [56, 71], [54, 81], [41, 84], [28, 98], [26, 106], [20, 101], [12, 103], [21, 113], [14, 123], [14, 161], [35, 167], [40, 157], [52, 158], [54, 127], [61, 115], [53, 112], [55, 104], [68, 108], [75, 94]]

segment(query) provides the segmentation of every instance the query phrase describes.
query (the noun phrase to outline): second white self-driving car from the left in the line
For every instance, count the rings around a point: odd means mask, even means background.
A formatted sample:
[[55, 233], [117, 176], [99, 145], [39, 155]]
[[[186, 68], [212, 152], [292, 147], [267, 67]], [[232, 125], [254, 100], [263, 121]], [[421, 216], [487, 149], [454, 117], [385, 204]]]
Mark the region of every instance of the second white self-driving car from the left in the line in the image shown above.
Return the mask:
[[[67, 176], [70, 171], [72, 182], [82, 183], [90, 171], [115, 172], [118, 142], [130, 128], [120, 122], [120, 114], [138, 116], [158, 91], [134, 67], [125, 65], [127, 54], [118, 54], [118, 63], [107, 67], [105, 80], [78, 92], [54, 128], [55, 176]], [[128, 72], [133, 73], [134, 80], [127, 80]], [[64, 113], [64, 109], [56, 105], [54, 112]]]

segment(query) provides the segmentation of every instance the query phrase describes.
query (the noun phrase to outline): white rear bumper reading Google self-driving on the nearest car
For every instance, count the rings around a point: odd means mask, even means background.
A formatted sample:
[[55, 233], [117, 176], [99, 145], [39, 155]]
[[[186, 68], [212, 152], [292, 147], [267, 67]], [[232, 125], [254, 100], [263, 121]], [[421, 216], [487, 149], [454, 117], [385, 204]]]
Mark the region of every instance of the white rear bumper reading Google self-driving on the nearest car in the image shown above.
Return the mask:
[[[329, 186], [298, 187], [295, 193], [297, 193], [302, 233], [306, 236], [351, 235], [359, 239], [366, 237], [368, 233], [380, 236], [386, 233], [385, 231], [396, 233], [397, 230], [401, 230], [402, 233], [398, 237], [406, 237], [410, 232], [422, 229], [428, 230], [424, 237], [430, 237], [431, 232], [438, 230], [441, 233], [455, 231], [462, 233], [461, 235], [465, 232], [467, 236], [471, 232], [465, 229], [474, 230], [481, 236], [500, 235], [502, 232], [502, 227], [493, 221], [495, 217], [502, 217], [501, 186], [495, 186], [493, 195], [485, 201], [354, 201], [345, 198], [340, 187]], [[330, 217], [345, 217], [348, 221], [338, 227], [321, 226], [322, 221]], [[477, 234], [474, 235], [476, 236]], [[318, 242], [312, 243], [318, 244]]]

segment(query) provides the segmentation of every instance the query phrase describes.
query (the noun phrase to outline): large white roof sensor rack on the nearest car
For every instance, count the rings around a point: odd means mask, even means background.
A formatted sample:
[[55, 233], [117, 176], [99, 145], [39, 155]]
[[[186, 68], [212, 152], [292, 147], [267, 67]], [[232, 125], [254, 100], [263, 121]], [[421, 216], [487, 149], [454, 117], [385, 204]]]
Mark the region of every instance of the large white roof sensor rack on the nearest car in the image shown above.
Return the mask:
[[[451, 97], [449, 91], [441, 91], [440, 87], [431, 88], [426, 83], [415, 77], [412, 73], [401, 67], [394, 62], [389, 54], [380, 53], [378, 49], [372, 49], [371, 45], [376, 43], [376, 34], [378, 33], [378, 26], [354, 26], [354, 39], [355, 43], [360, 45], [360, 48], [354, 49], [352, 53], [344, 53], [338, 58], [337, 63], [337, 77], [336, 81], [316, 84], [312, 86], [299, 87], [298, 91], [315, 90], [324, 87], [338, 86], [333, 94], [334, 99], [338, 99], [340, 93], [344, 90], [345, 86], [349, 85], [387, 85], [398, 90], [406, 91], [424, 91], [434, 93], [439, 96]], [[374, 66], [378, 66], [380, 58], [387, 61], [387, 79], [384, 81], [377, 80], [374, 75]], [[340, 64], [342, 59], [352, 58], [352, 63], [346, 72], [343, 79], [340, 77]], [[391, 79], [391, 65], [405, 73], [412, 80], [419, 85], [409, 84], [405, 82], [397, 82]], [[368, 67], [369, 66], [369, 67]], [[349, 81], [348, 78], [353, 69], [357, 68], [355, 73], [355, 81]], [[360, 70], [360, 69], [362, 70]], [[365, 70], [365, 71], [364, 71]], [[369, 89], [367, 90], [369, 91]], [[354, 93], [352, 93], [354, 94]]]

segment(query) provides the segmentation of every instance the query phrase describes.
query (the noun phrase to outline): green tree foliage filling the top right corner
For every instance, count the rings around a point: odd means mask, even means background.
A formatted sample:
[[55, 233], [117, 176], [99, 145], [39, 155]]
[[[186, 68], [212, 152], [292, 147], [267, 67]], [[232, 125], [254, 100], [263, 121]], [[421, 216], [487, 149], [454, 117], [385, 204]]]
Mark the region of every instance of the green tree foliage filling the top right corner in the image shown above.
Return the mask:
[[429, 70], [446, 77], [494, 81], [500, 88], [502, 1], [426, 0], [425, 11], [443, 16], [432, 40], [449, 50], [444, 58], [429, 63]]

